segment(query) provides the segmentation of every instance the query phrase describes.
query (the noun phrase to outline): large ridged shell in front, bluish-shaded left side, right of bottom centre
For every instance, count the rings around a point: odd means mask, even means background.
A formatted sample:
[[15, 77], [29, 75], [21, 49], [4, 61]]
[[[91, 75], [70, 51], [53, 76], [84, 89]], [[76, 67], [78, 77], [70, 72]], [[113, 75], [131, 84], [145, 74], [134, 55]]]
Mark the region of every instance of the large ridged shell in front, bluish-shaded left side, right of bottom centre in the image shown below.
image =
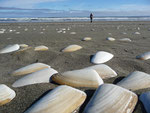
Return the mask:
[[132, 113], [137, 95], [113, 84], [102, 84], [83, 113]]

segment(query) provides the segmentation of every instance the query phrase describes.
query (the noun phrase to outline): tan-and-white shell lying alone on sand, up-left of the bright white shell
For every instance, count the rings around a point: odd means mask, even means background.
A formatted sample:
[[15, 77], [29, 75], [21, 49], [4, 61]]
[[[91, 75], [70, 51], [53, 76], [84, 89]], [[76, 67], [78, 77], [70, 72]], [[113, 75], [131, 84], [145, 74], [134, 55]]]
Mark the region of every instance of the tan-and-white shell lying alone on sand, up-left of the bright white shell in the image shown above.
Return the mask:
[[77, 50], [80, 50], [80, 49], [82, 49], [81, 46], [73, 44], [73, 45], [69, 45], [69, 46], [65, 47], [61, 51], [62, 52], [74, 52], [74, 51], [77, 51]]

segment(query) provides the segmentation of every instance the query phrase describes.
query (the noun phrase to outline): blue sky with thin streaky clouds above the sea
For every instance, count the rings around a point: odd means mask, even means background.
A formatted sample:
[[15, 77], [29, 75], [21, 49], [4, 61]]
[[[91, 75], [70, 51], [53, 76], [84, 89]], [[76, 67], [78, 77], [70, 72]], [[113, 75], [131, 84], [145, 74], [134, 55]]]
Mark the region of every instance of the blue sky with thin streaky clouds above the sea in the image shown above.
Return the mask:
[[150, 16], [150, 0], [0, 0], [0, 18]]

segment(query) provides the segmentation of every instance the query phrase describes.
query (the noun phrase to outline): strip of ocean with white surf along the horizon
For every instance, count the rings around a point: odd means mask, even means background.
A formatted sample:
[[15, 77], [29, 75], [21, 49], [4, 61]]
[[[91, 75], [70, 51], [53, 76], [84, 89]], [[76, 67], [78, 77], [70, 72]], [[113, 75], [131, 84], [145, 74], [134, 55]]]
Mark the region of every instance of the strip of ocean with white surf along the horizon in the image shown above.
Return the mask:
[[[89, 21], [89, 17], [0, 18], [0, 23], [79, 22], [79, 21]], [[105, 16], [105, 17], [94, 17], [93, 21], [150, 21], [150, 16]]]

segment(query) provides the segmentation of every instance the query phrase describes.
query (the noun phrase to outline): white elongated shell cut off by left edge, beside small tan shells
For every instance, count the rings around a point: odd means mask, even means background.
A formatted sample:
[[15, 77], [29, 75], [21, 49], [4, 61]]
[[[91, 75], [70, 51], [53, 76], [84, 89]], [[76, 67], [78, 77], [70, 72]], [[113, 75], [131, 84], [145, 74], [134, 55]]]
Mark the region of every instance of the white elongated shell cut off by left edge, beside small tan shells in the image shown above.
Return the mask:
[[20, 49], [20, 46], [18, 44], [8, 45], [5, 48], [0, 50], [0, 54], [14, 52], [19, 49]]

